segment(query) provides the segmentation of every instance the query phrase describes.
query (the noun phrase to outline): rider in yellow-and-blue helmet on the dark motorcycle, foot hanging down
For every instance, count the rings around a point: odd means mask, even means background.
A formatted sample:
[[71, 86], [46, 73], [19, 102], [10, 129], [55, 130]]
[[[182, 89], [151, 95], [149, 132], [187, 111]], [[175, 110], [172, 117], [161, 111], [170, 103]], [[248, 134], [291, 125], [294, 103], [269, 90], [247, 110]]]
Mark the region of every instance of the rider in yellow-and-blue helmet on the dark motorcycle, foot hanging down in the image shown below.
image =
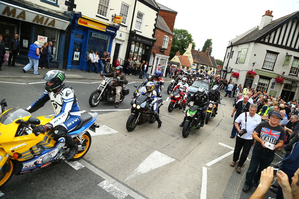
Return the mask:
[[145, 95], [149, 98], [154, 98], [154, 100], [149, 104], [149, 107], [153, 106], [153, 115], [155, 116], [157, 122], [158, 122], [158, 128], [161, 127], [162, 121], [159, 118], [158, 115], [158, 99], [157, 99], [157, 92], [154, 90], [155, 84], [152, 81], [147, 82], [146, 90], [143, 90], [140, 94]]

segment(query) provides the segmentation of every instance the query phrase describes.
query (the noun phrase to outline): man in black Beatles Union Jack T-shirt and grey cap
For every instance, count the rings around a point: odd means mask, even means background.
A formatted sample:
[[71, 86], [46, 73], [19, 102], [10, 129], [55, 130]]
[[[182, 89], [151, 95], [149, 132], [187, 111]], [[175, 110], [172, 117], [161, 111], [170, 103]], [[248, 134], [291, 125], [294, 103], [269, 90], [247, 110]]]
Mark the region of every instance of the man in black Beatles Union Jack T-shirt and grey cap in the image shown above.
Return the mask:
[[266, 169], [273, 161], [275, 149], [283, 146], [285, 131], [283, 127], [278, 125], [281, 119], [283, 118], [280, 112], [273, 111], [269, 122], [261, 122], [255, 127], [252, 138], [257, 142], [253, 148], [246, 173], [245, 186], [242, 189], [244, 192], [248, 192], [253, 186], [258, 186], [261, 171]]

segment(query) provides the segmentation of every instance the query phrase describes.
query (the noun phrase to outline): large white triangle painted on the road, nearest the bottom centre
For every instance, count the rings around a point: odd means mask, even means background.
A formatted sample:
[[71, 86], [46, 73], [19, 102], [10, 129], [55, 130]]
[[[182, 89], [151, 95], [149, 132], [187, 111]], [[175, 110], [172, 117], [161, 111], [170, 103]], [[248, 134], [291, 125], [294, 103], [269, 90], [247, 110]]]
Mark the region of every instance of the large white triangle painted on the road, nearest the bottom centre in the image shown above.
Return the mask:
[[161, 152], [154, 151], [126, 178], [125, 181], [134, 178], [136, 175], [145, 174], [173, 161], [175, 161], [175, 159], [170, 158]]

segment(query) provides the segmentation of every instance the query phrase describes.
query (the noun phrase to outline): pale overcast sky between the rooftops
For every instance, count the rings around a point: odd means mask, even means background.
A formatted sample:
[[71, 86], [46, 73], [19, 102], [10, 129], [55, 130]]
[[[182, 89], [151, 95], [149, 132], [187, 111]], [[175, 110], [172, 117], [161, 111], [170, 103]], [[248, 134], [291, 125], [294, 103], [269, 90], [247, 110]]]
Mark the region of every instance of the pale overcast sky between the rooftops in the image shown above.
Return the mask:
[[202, 50], [212, 39], [212, 56], [223, 61], [228, 41], [260, 25], [266, 10], [272, 10], [273, 20], [299, 10], [299, 0], [156, 0], [178, 12], [174, 27], [186, 29]]

